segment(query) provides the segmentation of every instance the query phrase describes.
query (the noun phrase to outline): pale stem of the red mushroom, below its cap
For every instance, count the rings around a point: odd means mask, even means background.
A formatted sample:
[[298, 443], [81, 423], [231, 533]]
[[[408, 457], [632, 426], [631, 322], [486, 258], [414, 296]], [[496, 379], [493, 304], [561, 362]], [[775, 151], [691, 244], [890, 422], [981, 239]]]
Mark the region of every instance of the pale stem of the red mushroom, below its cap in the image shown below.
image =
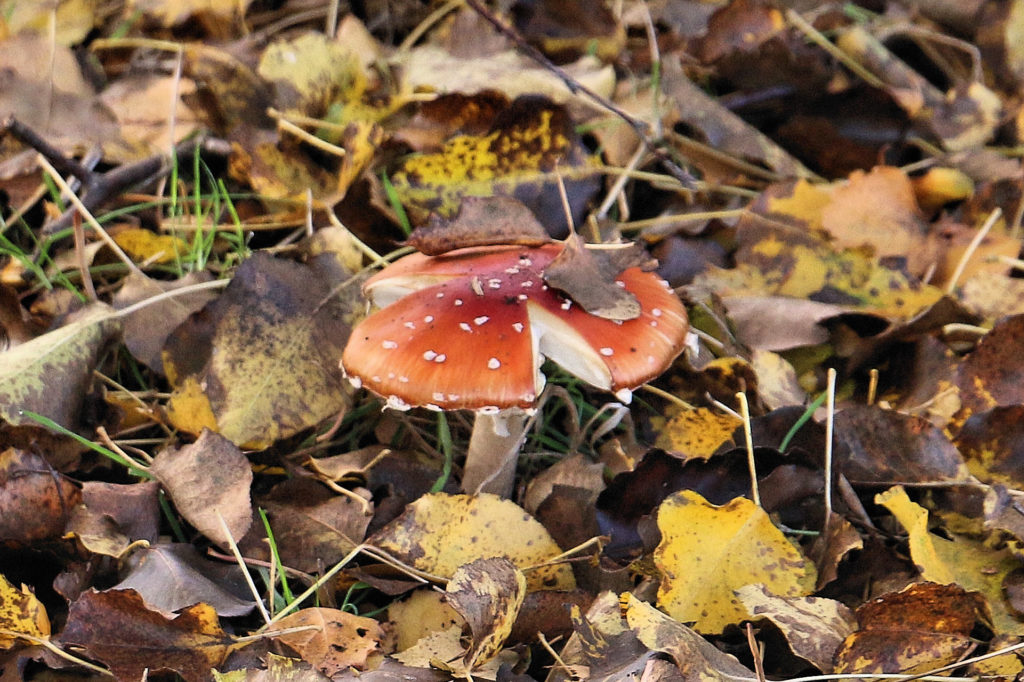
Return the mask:
[[526, 413], [518, 409], [477, 413], [463, 467], [462, 489], [507, 498], [515, 483], [519, 447], [526, 436]]

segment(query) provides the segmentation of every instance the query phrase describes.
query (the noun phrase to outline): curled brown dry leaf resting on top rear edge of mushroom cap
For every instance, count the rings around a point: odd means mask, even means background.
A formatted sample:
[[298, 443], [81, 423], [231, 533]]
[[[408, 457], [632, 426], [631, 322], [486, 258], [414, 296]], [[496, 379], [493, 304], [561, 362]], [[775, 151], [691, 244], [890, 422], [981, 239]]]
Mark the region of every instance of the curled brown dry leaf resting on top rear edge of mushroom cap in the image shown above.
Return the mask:
[[432, 214], [426, 225], [413, 230], [406, 245], [439, 256], [475, 246], [540, 246], [551, 241], [522, 202], [511, 197], [467, 197], [455, 218]]

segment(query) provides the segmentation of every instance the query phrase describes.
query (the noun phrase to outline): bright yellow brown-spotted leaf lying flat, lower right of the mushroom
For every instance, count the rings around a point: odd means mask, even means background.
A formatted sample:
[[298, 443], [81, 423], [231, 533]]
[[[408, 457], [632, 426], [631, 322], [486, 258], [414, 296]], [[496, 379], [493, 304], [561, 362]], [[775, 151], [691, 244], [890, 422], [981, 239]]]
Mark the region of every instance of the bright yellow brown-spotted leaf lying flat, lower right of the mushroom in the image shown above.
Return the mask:
[[761, 583], [785, 597], [814, 589], [813, 564], [744, 498], [716, 507], [682, 491], [662, 503], [657, 527], [658, 606], [677, 621], [692, 622], [698, 632], [719, 633], [748, 617], [734, 594], [744, 585]]

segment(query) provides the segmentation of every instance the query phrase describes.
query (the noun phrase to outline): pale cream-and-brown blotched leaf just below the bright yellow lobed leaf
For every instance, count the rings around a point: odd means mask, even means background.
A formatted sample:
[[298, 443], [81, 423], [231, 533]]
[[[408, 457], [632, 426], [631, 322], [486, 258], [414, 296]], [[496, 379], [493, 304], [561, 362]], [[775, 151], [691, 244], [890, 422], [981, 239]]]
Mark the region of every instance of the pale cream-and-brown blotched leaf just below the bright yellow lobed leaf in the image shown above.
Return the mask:
[[764, 585], [746, 585], [736, 597], [751, 619], [775, 624], [795, 654], [822, 673], [833, 670], [833, 654], [856, 628], [843, 603], [821, 597], [779, 597]]

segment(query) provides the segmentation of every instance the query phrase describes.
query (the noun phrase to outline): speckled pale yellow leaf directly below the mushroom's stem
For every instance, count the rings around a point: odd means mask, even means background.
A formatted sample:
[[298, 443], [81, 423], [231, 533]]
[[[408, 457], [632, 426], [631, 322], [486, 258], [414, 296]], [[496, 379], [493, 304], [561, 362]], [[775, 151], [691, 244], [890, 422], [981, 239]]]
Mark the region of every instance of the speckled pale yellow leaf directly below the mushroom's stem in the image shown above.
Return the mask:
[[[504, 556], [520, 569], [561, 554], [548, 531], [522, 508], [495, 495], [425, 495], [369, 541], [396, 558], [443, 579], [476, 559]], [[570, 590], [572, 570], [555, 564], [530, 570], [530, 592]]]

